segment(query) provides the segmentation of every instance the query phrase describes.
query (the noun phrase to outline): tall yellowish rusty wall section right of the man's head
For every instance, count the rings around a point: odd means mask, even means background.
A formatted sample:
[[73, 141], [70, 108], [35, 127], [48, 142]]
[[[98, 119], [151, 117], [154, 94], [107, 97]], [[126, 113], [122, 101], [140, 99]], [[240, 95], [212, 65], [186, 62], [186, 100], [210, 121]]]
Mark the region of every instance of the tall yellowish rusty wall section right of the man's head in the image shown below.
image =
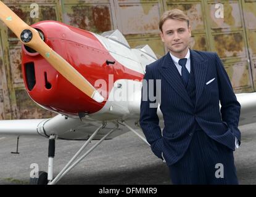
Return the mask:
[[216, 15], [217, 3], [205, 2], [210, 49], [223, 60], [235, 92], [250, 92], [254, 86], [241, 1], [220, 1], [223, 17]]

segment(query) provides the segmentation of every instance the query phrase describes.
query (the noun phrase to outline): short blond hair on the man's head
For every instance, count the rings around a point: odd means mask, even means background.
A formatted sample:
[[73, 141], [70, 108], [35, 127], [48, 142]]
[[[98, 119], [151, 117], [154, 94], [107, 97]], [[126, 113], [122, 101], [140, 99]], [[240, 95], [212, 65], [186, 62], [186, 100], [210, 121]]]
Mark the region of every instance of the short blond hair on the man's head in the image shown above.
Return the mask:
[[162, 31], [163, 23], [165, 23], [167, 19], [184, 20], [188, 23], [188, 26], [189, 26], [189, 18], [186, 14], [184, 14], [183, 10], [173, 9], [173, 10], [165, 11], [162, 17], [160, 18], [160, 22], [159, 22], [160, 31]]

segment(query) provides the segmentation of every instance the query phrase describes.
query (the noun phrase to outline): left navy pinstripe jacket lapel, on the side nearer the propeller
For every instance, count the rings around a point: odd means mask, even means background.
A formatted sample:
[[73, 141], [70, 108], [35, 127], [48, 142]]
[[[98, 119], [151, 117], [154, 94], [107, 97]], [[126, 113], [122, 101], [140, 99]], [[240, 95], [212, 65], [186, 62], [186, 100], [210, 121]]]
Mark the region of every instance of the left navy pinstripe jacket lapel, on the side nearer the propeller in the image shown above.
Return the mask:
[[159, 71], [163, 77], [168, 81], [171, 87], [183, 98], [189, 105], [192, 106], [191, 99], [189, 98], [188, 92], [184, 87], [180, 73], [177, 70], [171, 55], [169, 52], [163, 58], [163, 63], [159, 66]]

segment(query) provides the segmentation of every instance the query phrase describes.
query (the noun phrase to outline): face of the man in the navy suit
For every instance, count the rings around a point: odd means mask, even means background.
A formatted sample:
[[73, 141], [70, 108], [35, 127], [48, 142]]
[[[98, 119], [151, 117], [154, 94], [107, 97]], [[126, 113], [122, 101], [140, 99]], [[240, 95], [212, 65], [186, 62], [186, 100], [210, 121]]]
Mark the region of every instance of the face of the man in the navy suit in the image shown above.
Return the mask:
[[181, 58], [186, 55], [191, 37], [191, 26], [186, 21], [165, 20], [160, 35], [171, 54]]

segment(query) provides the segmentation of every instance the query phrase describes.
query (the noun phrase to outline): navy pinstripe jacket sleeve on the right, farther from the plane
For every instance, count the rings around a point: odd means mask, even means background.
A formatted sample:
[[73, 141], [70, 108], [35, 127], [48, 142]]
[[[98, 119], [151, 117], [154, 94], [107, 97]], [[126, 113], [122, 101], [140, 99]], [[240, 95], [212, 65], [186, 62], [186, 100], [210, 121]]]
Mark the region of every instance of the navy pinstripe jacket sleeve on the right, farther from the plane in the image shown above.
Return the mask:
[[231, 132], [233, 132], [234, 136], [238, 139], [240, 145], [241, 132], [238, 129], [238, 123], [241, 105], [237, 101], [228, 74], [217, 54], [215, 54], [215, 60], [217, 63], [221, 118], [228, 124], [229, 129], [231, 129]]

